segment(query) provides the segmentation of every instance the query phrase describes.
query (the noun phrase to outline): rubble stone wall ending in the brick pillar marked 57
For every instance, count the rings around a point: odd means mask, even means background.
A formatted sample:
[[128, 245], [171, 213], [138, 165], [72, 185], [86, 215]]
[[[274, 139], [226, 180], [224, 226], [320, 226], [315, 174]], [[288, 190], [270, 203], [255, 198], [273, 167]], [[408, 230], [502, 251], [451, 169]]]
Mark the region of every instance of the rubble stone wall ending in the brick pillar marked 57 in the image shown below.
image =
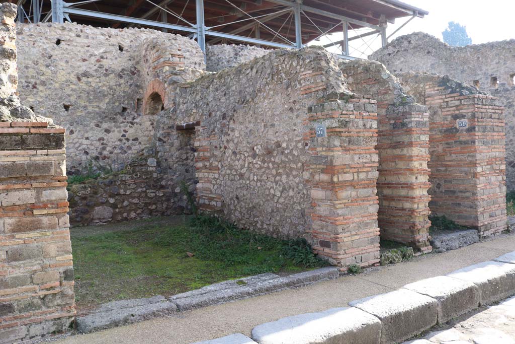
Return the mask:
[[[196, 191], [201, 211], [273, 236], [308, 237], [342, 269], [374, 264], [375, 104], [344, 83], [329, 54], [305, 48], [182, 84], [176, 106], [157, 122], [163, 170], [179, 165], [183, 146], [181, 178]], [[316, 105], [319, 99], [327, 105]], [[318, 124], [327, 136], [316, 137]], [[193, 158], [194, 170], [187, 165]], [[170, 188], [178, 187], [180, 179], [167, 175]]]

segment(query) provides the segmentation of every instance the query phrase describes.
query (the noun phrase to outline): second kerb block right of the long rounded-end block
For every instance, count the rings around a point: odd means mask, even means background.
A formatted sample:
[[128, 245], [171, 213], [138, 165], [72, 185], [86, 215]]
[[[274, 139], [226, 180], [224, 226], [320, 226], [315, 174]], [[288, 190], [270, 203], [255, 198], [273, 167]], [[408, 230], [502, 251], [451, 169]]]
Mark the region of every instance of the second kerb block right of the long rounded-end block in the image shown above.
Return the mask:
[[410, 283], [404, 288], [427, 295], [438, 301], [438, 323], [470, 312], [479, 306], [479, 289], [472, 282], [437, 276]]

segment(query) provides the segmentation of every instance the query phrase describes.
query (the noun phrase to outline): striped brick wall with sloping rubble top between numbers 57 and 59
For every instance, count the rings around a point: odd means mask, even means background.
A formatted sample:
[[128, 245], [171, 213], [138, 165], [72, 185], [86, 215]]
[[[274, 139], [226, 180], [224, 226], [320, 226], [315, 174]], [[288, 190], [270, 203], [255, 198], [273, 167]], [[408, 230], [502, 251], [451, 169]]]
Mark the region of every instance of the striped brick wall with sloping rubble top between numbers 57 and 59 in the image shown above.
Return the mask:
[[345, 61], [340, 62], [340, 68], [351, 91], [370, 95], [377, 101], [381, 237], [429, 252], [427, 107], [406, 95], [397, 78], [379, 62]]

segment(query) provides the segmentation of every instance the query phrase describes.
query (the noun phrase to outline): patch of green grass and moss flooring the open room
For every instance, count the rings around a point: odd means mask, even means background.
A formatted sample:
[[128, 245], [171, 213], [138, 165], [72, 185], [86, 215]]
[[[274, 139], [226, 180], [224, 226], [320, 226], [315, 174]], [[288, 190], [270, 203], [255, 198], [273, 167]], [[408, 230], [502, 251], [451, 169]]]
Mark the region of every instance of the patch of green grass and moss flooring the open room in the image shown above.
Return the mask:
[[251, 233], [210, 217], [76, 227], [71, 236], [79, 312], [119, 299], [170, 296], [229, 279], [325, 265], [305, 242]]

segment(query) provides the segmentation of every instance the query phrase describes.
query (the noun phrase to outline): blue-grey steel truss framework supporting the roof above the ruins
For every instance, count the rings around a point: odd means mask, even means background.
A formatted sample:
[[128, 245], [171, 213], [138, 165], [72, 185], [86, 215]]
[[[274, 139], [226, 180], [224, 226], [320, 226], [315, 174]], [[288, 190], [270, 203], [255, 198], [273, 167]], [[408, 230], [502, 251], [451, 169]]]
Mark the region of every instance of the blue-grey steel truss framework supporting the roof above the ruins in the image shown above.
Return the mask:
[[[52, 3], [52, 10], [47, 13], [41, 13], [41, 9], [43, 8], [43, 1], [50, 1]], [[378, 35], [381, 36], [382, 45], [386, 45], [388, 37], [386, 36], [386, 20], [381, 21], [379, 26], [372, 25], [370, 23], [359, 21], [353, 18], [348, 18], [343, 15], [339, 15], [336, 13], [324, 11], [318, 8], [305, 6], [301, 3], [301, 1], [289, 1], [289, 0], [268, 0], [271, 3], [277, 4], [272, 8], [268, 8], [268, 10], [273, 9], [274, 12], [267, 14], [252, 14], [253, 11], [245, 11], [242, 8], [234, 5], [230, 0], [224, 0], [228, 5], [234, 7], [234, 11], [237, 15], [228, 14], [226, 16], [221, 17], [236, 17], [237, 20], [234, 20], [230, 23], [223, 23], [215, 26], [206, 26], [204, 22], [204, 0], [188, 0], [184, 8], [191, 1], [195, 1], [196, 6], [196, 22], [191, 23], [185, 20], [182, 17], [182, 13], [175, 13], [167, 8], [167, 5], [173, 0], [162, 0], [158, 3], [158, 0], [145, 0], [146, 2], [152, 4], [153, 7], [147, 13], [145, 13], [142, 18], [133, 18], [128, 17], [126, 15], [121, 14], [112, 14], [105, 13], [100, 11], [93, 11], [80, 8], [81, 5], [96, 3], [102, 0], [83, 0], [75, 3], [66, 3], [63, 0], [18, 0], [17, 5], [19, 6], [19, 14], [18, 21], [25, 22], [28, 21], [30, 23], [39, 23], [39, 22], [47, 22], [50, 19], [55, 23], [63, 23], [65, 20], [71, 21], [70, 15], [78, 15], [80, 17], [89, 17], [89, 18], [98, 18], [104, 19], [106, 21], [111, 22], [121, 22], [132, 25], [143, 25], [149, 27], [160, 28], [163, 31], [179, 31], [185, 32], [190, 37], [195, 38], [202, 51], [205, 52], [206, 40], [209, 38], [209, 42], [211, 44], [217, 43], [220, 41], [235, 41], [235, 42], [244, 42], [255, 44], [259, 46], [268, 46], [274, 48], [291, 48], [291, 49], [300, 49], [304, 45], [302, 44], [302, 25], [310, 25], [315, 30], [320, 31], [320, 35], [316, 38], [320, 37], [328, 37], [329, 33], [335, 32], [335, 28], [341, 27], [341, 31], [344, 35], [344, 39], [332, 42], [330, 44], [325, 44], [324, 47], [332, 47], [339, 46], [341, 49], [341, 54], [337, 54], [341, 58], [352, 59], [349, 53], [349, 42], [356, 39], [363, 39], [364, 37], [370, 35]], [[25, 11], [24, 8], [29, 7], [28, 12]], [[184, 10], [183, 10], [184, 11]], [[258, 11], [258, 10], [256, 10]], [[156, 17], [158, 15], [158, 19], [161, 20], [150, 20], [150, 17]], [[313, 14], [330, 18], [332, 22], [336, 19], [339, 21], [336, 25], [331, 25], [329, 29], [327, 27], [321, 28], [315, 24], [315, 22], [310, 18]], [[278, 19], [281, 16], [287, 16], [284, 19], [283, 25], [278, 29], [274, 30], [270, 26], [267, 25], [268, 21], [273, 19]], [[417, 13], [413, 13], [413, 17], [409, 20], [415, 18]], [[168, 18], [174, 17], [177, 19], [176, 24], [166, 22]], [[212, 19], [212, 18], [210, 18]], [[281, 19], [283, 20], [283, 19]], [[408, 21], [409, 21], [408, 20]], [[295, 40], [288, 39], [283, 36], [280, 31], [283, 26], [287, 22], [295, 22]], [[230, 32], [221, 32], [215, 29], [228, 26], [230, 24], [241, 23], [242, 26], [234, 29]], [[407, 23], [405, 23], [407, 24]], [[404, 24], [404, 25], [405, 25]], [[115, 24], [116, 25], [116, 24]], [[366, 32], [363, 34], [358, 34], [357, 36], [349, 37], [349, 29], [352, 29], [352, 25], [359, 27], [366, 27], [371, 29], [370, 32]], [[403, 26], [404, 26], [403, 25]], [[289, 27], [289, 26], [288, 26]], [[400, 29], [400, 28], [399, 28]], [[239, 35], [244, 31], [251, 30], [249, 36]], [[273, 35], [272, 40], [262, 39], [261, 33], [267, 31], [268, 33]], [[251, 37], [253, 35], [253, 37]], [[390, 35], [391, 36], [391, 35]], [[365, 42], [365, 41], [364, 41]], [[367, 45], [368, 43], [365, 42]]]

